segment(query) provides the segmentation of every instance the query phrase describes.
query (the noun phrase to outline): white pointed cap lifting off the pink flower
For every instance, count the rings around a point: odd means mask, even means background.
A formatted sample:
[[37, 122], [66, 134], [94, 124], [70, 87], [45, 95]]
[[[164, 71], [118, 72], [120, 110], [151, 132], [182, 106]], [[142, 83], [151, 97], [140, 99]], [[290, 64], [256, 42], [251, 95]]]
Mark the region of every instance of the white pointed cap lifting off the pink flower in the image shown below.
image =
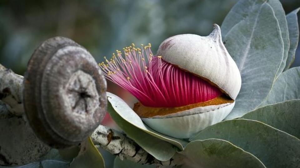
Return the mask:
[[208, 36], [175, 35], [160, 44], [157, 55], [168, 63], [200, 76], [219, 87], [232, 100], [241, 89], [241, 75], [222, 42], [217, 24]]

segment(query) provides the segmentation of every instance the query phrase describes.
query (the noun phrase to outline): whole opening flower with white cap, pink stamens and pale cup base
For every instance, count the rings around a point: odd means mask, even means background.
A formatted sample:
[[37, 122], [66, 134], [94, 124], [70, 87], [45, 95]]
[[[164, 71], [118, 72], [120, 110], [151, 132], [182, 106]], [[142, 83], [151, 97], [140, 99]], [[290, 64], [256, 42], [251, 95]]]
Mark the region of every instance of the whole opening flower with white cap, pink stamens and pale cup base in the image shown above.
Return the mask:
[[[117, 50], [100, 67], [106, 78], [135, 96], [133, 110], [154, 130], [190, 138], [232, 110], [241, 75], [222, 43], [217, 24], [208, 36], [176, 35], [156, 55], [151, 44]], [[148, 63], [146, 61], [148, 60]]]

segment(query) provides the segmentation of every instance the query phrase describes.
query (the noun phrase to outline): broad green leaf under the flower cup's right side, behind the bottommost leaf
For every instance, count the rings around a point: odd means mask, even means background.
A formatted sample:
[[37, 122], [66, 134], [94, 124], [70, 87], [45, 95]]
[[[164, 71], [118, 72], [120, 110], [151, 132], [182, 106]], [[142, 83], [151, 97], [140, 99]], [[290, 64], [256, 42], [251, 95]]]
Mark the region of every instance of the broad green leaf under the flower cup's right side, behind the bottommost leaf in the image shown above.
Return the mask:
[[300, 165], [300, 140], [259, 121], [234, 119], [205, 128], [190, 140], [218, 138], [252, 153], [266, 167]]

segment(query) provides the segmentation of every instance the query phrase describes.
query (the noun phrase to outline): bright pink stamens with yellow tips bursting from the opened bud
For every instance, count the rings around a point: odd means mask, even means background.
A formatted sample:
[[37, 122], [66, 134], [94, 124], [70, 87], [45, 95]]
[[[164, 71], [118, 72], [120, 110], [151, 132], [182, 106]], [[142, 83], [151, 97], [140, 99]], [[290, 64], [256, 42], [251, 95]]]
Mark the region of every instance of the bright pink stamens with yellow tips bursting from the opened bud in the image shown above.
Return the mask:
[[[221, 91], [202, 78], [153, 56], [151, 44], [117, 50], [106, 63], [99, 63], [105, 77], [128, 90], [143, 105], [178, 107], [211, 100]], [[148, 63], [146, 61], [148, 60]]]

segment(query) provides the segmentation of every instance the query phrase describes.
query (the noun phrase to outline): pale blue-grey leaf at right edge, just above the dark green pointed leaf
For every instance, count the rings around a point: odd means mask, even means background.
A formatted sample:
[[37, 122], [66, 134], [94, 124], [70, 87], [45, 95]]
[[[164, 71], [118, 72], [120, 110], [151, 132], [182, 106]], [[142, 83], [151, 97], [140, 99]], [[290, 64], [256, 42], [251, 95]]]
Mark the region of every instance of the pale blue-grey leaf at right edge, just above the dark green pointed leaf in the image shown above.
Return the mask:
[[300, 67], [288, 69], [276, 79], [267, 98], [260, 106], [300, 99]]

